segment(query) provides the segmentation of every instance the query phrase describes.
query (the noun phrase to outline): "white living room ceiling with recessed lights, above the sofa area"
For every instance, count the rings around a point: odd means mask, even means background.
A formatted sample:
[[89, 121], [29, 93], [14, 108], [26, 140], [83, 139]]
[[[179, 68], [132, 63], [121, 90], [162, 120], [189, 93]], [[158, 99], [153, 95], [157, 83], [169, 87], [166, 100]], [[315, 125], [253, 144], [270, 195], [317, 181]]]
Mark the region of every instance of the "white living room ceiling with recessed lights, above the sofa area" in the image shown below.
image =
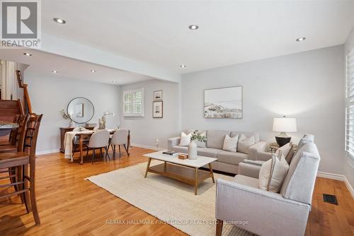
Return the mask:
[[45, 33], [175, 73], [341, 45], [353, 26], [354, 1], [42, 0]]

